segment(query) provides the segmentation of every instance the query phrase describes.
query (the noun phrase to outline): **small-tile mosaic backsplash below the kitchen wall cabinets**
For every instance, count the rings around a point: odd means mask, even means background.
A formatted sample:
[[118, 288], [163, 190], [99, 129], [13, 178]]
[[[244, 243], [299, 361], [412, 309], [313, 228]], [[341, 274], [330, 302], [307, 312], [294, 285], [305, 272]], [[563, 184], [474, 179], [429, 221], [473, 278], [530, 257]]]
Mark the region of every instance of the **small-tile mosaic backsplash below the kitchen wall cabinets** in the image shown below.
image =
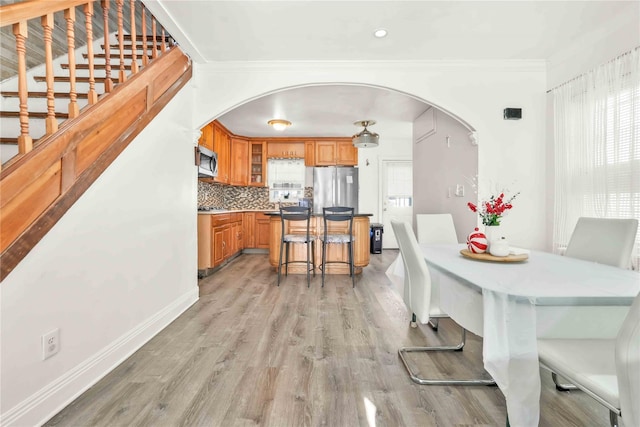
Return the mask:
[[[304, 196], [313, 197], [313, 187], [306, 187]], [[198, 206], [226, 209], [276, 209], [275, 203], [269, 203], [267, 187], [236, 187], [204, 181], [198, 181]]]

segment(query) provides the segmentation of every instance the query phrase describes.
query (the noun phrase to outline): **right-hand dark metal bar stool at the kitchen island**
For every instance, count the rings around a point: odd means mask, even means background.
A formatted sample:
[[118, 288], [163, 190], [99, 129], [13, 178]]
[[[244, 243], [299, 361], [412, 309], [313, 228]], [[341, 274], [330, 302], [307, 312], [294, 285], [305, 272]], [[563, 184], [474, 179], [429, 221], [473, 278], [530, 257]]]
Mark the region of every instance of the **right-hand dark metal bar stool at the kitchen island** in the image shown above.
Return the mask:
[[[346, 206], [334, 206], [331, 208], [322, 208], [322, 216], [324, 219], [324, 233], [320, 235], [322, 240], [322, 286], [324, 287], [325, 266], [332, 263], [349, 264], [349, 275], [353, 287], [356, 287], [355, 271], [353, 266], [353, 208]], [[346, 222], [346, 233], [329, 233], [329, 223]], [[333, 226], [335, 230], [335, 225]], [[330, 243], [347, 244], [349, 251], [349, 261], [327, 261], [327, 245]]]

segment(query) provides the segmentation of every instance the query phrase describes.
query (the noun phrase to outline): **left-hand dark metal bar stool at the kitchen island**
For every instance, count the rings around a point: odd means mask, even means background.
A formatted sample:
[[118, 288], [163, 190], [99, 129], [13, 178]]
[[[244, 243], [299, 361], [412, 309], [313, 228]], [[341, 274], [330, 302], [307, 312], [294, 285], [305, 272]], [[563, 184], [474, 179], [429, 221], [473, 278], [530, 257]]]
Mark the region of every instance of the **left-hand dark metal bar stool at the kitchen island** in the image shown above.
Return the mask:
[[[315, 277], [315, 236], [309, 234], [309, 223], [311, 222], [311, 208], [307, 206], [285, 206], [280, 207], [280, 218], [282, 224], [282, 237], [280, 238], [280, 259], [278, 261], [278, 286], [280, 286], [280, 272], [282, 270], [282, 252], [285, 252], [285, 275], [289, 275], [289, 264], [306, 262], [307, 263], [307, 287], [309, 287], [309, 273], [313, 271]], [[298, 229], [298, 233], [292, 233], [292, 224], [294, 229]], [[301, 224], [304, 223], [304, 226]], [[305, 261], [289, 261], [289, 244], [304, 243], [307, 247], [307, 257]], [[311, 252], [311, 255], [309, 255]], [[311, 264], [309, 260], [311, 259]]]

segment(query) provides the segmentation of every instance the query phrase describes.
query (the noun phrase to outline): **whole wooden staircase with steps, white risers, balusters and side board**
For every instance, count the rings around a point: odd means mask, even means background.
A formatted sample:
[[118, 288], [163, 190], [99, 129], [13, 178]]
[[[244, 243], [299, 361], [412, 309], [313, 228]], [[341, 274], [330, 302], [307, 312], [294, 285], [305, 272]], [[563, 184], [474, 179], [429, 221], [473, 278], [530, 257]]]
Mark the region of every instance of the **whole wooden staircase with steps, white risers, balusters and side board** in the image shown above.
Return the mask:
[[[189, 58], [155, 18], [147, 25], [140, 1], [112, 3], [29, 0], [0, 7], [3, 40], [9, 26], [16, 39], [15, 61], [3, 57], [3, 68], [16, 64], [17, 74], [0, 83], [0, 281], [191, 79]], [[94, 6], [103, 12], [99, 41]], [[84, 11], [86, 39], [93, 40], [78, 49], [76, 9]], [[66, 31], [57, 34], [61, 15]], [[110, 22], [117, 31], [109, 32]], [[38, 28], [46, 59], [27, 72], [33, 46], [26, 37]], [[57, 48], [68, 44], [68, 55], [53, 60], [55, 41]]]

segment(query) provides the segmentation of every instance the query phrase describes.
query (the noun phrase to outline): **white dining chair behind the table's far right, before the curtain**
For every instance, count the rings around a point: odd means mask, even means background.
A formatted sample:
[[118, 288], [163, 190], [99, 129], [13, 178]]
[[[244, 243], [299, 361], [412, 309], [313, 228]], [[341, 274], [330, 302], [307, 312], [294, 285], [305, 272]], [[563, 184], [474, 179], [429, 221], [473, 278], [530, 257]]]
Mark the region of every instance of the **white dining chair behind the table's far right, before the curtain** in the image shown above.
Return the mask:
[[[637, 219], [580, 217], [564, 255], [629, 268], [637, 231]], [[556, 372], [551, 373], [551, 378], [558, 390], [576, 388], [572, 384], [560, 382]]]

